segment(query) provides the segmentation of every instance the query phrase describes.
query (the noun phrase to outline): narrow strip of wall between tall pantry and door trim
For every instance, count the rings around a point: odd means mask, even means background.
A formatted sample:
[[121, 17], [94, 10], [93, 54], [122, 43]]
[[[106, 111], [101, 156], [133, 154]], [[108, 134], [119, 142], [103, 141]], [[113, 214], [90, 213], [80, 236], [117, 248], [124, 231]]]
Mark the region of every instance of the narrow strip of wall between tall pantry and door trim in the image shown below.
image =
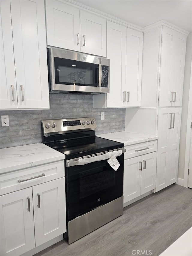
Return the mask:
[[180, 146], [179, 146], [179, 169], [178, 169], [178, 178], [180, 179], [184, 179], [184, 161], [185, 161], [185, 146], [186, 146], [187, 110], [188, 110], [189, 86], [190, 86], [191, 56], [192, 56], [192, 32], [190, 32], [190, 34], [187, 36], [186, 57], [185, 57], [181, 136], [180, 136]]

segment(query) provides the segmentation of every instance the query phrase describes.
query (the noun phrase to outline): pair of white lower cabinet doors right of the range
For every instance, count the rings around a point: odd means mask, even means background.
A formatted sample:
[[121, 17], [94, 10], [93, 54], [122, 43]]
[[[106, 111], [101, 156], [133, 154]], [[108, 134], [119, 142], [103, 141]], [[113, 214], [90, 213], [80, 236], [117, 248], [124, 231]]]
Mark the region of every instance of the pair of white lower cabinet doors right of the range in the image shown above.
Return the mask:
[[157, 152], [124, 161], [123, 203], [155, 188]]

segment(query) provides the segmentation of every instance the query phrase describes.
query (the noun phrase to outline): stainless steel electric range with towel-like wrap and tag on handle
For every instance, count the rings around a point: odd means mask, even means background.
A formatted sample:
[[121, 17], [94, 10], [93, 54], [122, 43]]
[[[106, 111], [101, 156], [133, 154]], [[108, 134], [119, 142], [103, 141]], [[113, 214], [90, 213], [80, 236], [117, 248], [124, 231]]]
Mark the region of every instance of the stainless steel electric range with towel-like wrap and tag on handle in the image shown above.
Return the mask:
[[65, 154], [69, 244], [123, 214], [124, 144], [96, 127], [93, 117], [42, 121], [42, 142]]

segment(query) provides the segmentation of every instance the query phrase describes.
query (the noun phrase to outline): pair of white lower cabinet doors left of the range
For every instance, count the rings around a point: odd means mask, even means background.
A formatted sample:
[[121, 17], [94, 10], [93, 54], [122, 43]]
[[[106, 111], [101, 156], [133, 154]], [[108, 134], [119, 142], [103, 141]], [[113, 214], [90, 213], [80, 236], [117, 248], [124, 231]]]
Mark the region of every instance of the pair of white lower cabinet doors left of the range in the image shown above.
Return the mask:
[[23, 254], [66, 232], [64, 177], [1, 195], [0, 206], [0, 255]]

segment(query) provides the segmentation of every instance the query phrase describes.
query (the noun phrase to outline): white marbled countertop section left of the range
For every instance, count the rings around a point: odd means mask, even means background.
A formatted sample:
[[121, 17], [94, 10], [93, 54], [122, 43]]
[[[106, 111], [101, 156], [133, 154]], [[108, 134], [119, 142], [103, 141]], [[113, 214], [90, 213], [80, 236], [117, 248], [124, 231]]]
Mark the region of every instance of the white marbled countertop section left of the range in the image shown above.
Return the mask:
[[65, 155], [43, 143], [0, 149], [0, 174], [59, 161]]

